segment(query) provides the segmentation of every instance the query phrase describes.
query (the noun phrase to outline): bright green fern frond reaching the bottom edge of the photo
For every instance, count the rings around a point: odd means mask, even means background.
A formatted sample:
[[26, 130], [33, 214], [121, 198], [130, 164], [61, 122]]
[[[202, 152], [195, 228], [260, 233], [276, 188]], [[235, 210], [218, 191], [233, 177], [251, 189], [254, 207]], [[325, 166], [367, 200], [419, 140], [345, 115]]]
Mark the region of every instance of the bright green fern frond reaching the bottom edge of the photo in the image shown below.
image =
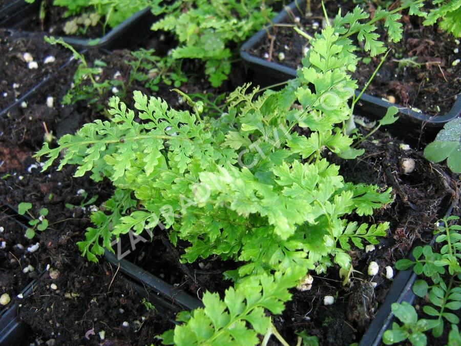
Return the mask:
[[159, 338], [164, 344], [178, 346], [259, 344], [258, 335], [264, 335], [271, 325], [265, 309], [273, 314], [282, 313], [284, 303], [291, 298], [288, 289], [296, 286], [303, 273], [298, 268], [288, 269], [284, 274], [250, 277], [226, 290], [223, 300], [217, 293], [206, 292], [203, 309], [179, 315], [179, 321], [184, 323]]

